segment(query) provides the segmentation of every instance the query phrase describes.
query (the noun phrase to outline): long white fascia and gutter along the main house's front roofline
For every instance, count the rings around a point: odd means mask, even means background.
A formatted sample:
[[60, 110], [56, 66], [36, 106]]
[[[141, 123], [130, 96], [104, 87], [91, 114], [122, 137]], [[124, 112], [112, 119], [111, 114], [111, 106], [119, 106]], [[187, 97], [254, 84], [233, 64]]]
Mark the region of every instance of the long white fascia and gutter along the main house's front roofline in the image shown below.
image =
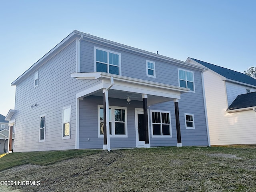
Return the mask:
[[147, 55], [147, 56], [153, 56], [154, 58], [159, 58], [159, 59], [162, 59], [162, 60], [175, 62], [176, 64], [181, 64], [182, 66], [193, 67], [193, 68], [197, 68], [197, 69], [200, 69], [200, 70], [203, 70], [205, 68], [205, 67], [201, 67], [201, 66], [198, 66], [198, 65], [195, 65], [195, 64], [188, 63], [188, 62], [184, 62], [184, 61], [176, 60], [176, 59], [173, 59], [173, 58], [170, 58], [170, 57], [166, 57], [166, 56], [163, 56], [163, 55], [160, 55], [160, 54], [152, 53], [152, 52], [145, 51], [145, 50], [142, 50], [142, 49], [138, 49], [138, 48], [134, 48], [134, 47], [131, 47], [131, 46], [124, 45], [124, 44], [120, 44], [120, 43], [117, 43], [117, 42], [114, 42], [114, 41], [106, 40], [106, 39], [96, 37], [96, 36], [93, 36], [93, 35], [90, 35], [90, 34], [86, 34], [86, 33], [83, 33], [83, 32], [77, 31], [77, 30], [74, 30], [74, 33], [76, 33], [78, 35], [84, 35], [84, 38], [87, 38], [87, 39], [96, 40], [96, 41], [103, 42], [103, 43], [106, 43], [106, 44], [109, 44], [109, 45], [112, 45], [112, 46], [123, 48], [125, 50], [130, 50], [130, 51], [133, 51], [133, 52], [144, 54], [144, 55]]

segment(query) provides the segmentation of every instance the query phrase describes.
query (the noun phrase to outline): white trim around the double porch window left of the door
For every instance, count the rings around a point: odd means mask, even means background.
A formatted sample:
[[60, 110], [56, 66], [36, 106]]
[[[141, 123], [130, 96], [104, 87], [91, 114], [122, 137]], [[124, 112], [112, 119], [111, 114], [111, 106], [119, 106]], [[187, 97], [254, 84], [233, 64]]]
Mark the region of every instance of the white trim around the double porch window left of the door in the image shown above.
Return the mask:
[[[98, 105], [98, 117], [97, 117], [97, 123], [98, 123], [98, 138], [103, 138], [104, 136], [100, 134], [100, 108], [103, 108], [103, 105]], [[108, 106], [108, 108], [111, 108], [111, 135], [110, 138], [127, 138], [128, 137], [128, 128], [127, 128], [127, 108], [126, 107], [120, 107], [120, 106]], [[125, 134], [124, 135], [116, 135], [115, 134], [115, 108], [117, 109], [124, 109], [125, 110]]]

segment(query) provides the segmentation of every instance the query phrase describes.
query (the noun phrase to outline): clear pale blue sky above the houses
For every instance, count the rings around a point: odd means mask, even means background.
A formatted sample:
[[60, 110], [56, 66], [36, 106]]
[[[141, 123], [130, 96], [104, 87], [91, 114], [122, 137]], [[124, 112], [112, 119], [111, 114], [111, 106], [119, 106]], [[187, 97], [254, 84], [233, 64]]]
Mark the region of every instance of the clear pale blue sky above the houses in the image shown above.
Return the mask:
[[185, 61], [256, 66], [255, 0], [0, 0], [0, 114], [11, 83], [73, 30]]

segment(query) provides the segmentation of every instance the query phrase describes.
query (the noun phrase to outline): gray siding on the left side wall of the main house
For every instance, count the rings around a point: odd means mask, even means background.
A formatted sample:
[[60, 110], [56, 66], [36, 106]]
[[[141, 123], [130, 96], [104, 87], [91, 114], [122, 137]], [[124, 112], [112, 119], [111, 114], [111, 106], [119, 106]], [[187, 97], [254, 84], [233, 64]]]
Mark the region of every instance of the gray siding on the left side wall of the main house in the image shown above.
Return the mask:
[[[76, 42], [53, 56], [38, 71], [38, 86], [34, 87], [34, 72], [16, 85], [14, 151], [44, 151], [75, 148], [75, 116], [77, 81]], [[74, 91], [75, 90], [75, 91]], [[32, 104], [38, 106], [31, 108]], [[71, 105], [71, 138], [62, 140], [62, 108]], [[46, 114], [45, 142], [39, 142], [40, 115]]]

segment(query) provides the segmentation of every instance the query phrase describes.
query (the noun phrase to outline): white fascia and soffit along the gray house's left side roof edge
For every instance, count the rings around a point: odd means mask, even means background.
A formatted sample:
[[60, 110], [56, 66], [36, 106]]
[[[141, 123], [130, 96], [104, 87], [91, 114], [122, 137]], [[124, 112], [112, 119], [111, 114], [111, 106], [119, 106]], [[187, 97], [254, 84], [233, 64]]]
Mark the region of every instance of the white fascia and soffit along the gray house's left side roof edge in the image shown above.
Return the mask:
[[[57, 54], [59, 51], [62, 50], [65, 46], [73, 42], [76, 38], [72, 38], [76, 33], [73, 31], [70, 33], [66, 38], [64, 38], [60, 43], [58, 43], [54, 48], [52, 48], [48, 53], [46, 53], [42, 58], [40, 58], [36, 63], [34, 63], [28, 70], [26, 70], [21, 76], [19, 76], [14, 82], [11, 83], [11, 86], [16, 86], [18, 82], [27, 74], [30, 74], [31, 71], [34, 71], [38, 68], [38, 65], [48, 61], [50, 58], [52, 58], [51, 55]], [[50, 56], [50, 57], [49, 57]]]

